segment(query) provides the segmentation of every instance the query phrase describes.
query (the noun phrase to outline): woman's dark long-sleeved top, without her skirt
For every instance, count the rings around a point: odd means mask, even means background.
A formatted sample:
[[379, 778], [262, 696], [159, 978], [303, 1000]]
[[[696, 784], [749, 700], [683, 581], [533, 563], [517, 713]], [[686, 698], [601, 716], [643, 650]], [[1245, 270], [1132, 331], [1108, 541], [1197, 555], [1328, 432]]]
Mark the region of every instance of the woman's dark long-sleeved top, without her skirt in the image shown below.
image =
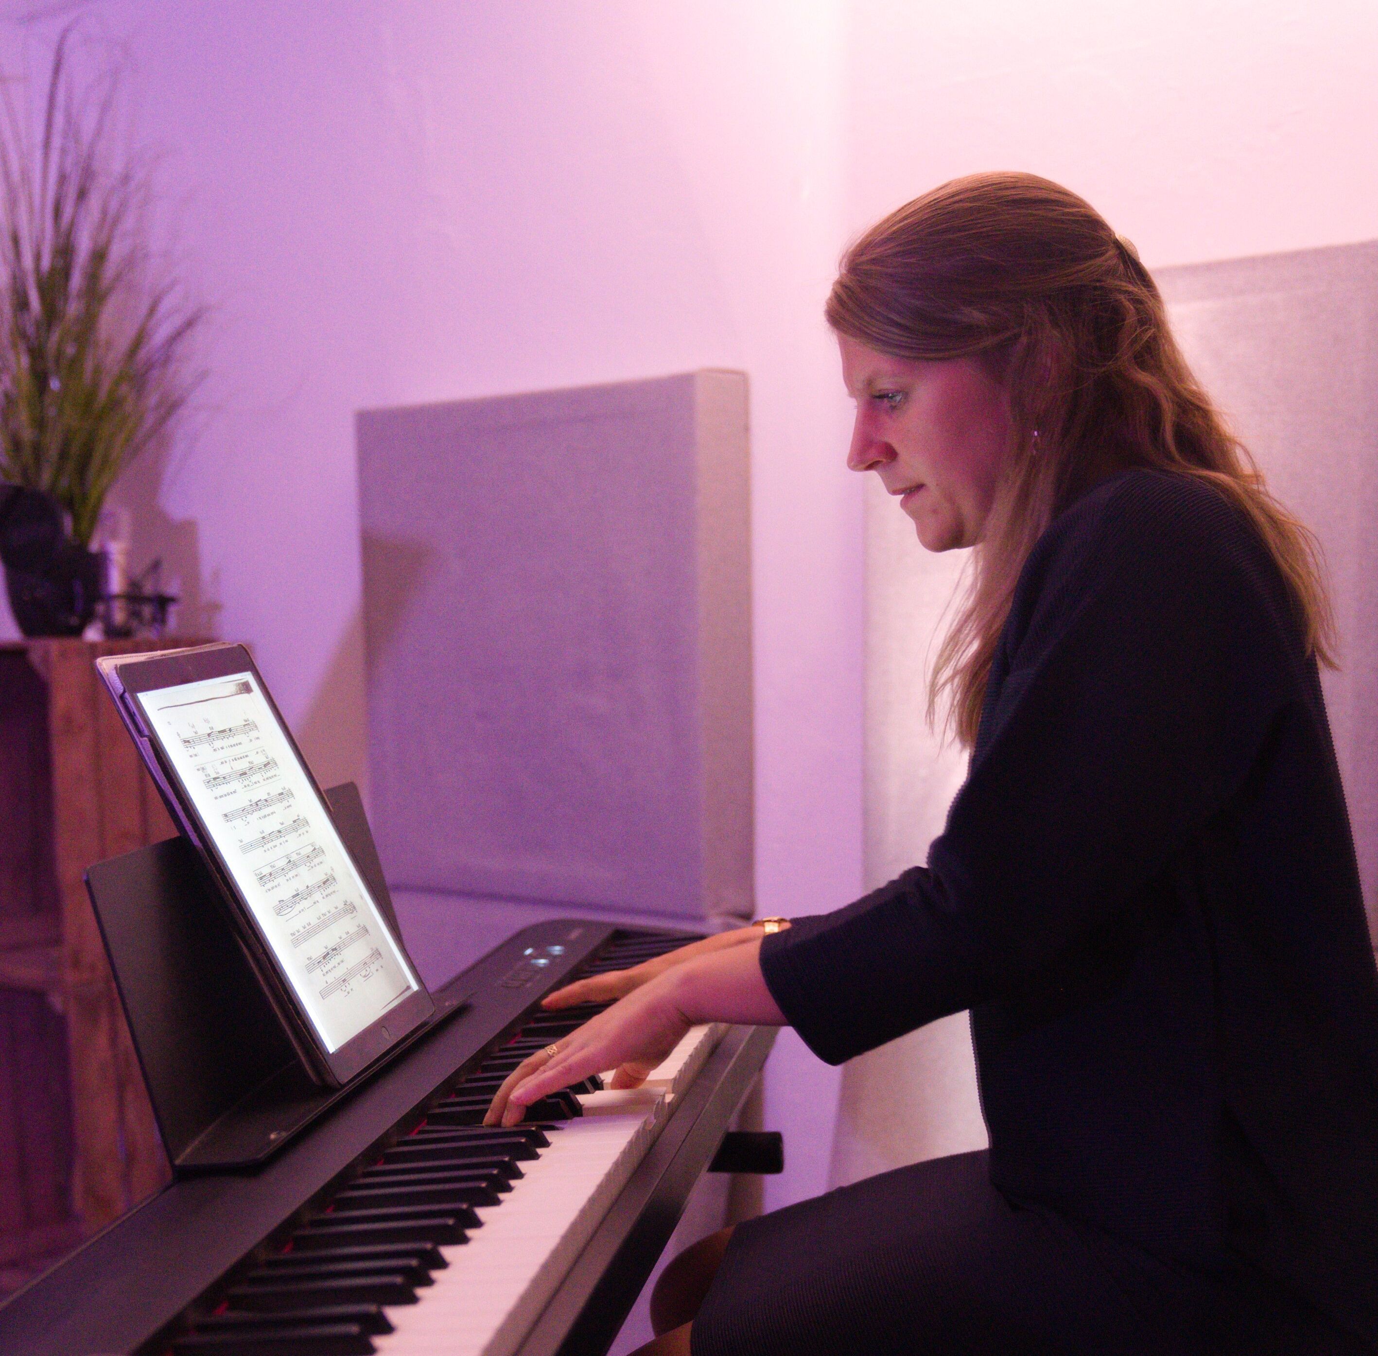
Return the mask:
[[1349, 820], [1295, 612], [1217, 491], [1126, 471], [1054, 521], [929, 864], [761, 959], [830, 1062], [970, 1007], [1011, 1199], [1178, 1271], [1244, 1258], [1378, 1341]]

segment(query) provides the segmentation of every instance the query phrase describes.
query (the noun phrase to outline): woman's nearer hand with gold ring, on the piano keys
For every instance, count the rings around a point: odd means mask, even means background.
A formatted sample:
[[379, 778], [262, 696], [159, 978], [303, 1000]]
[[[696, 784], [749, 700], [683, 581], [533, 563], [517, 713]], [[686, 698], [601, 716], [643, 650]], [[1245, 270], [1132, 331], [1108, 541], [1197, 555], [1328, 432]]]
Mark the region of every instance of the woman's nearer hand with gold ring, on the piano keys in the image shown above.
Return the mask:
[[674, 978], [657, 976], [577, 1031], [513, 1069], [497, 1089], [485, 1126], [514, 1126], [542, 1097], [615, 1069], [609, 1087], [639, 1087], [693, 1025], [674, 1000]]

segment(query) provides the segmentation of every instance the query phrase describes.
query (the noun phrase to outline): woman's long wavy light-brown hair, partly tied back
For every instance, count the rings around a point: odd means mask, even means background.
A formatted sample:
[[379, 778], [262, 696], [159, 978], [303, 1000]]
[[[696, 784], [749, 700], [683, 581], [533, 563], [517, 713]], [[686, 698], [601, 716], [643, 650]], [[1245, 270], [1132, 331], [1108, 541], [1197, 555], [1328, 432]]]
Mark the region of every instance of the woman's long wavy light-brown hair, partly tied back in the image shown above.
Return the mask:
[[843, 255], [828, 324], [878, 353], [980, 356], [1007, 393], [1014, 445], [929, 682], [976, 741], [1000, 627], [1034, 543], [1105, 475], [1152, 467], [1214, 485], [1254, 524], [1306, 645], [1334, 667], [1315, 536], [1264, 485], [1197, 383], [1134, 247], [1083, 198], [1031, 174], [944, 183]]

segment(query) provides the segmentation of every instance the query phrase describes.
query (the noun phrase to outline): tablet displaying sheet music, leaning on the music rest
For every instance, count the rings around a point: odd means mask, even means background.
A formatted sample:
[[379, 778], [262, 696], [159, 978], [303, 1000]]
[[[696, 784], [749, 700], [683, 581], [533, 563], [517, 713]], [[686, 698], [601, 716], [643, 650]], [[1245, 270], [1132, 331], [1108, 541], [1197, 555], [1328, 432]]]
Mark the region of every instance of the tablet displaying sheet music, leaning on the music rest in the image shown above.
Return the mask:
[[343, 1085], [434, 1005], [243, 645], [96, 660], [298, 1053]]

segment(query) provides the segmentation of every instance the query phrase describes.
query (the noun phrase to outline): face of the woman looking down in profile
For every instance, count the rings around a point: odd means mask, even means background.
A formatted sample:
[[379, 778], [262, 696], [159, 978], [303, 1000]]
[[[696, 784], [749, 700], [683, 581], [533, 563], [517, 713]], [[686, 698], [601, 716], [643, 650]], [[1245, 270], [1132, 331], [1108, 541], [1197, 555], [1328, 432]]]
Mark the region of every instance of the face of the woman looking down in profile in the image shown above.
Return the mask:
[[892, 358], [838, 335], [857, 402], [847, 466], [875, 471], [930, 551], [976, 546], [1013, 446], [1005, 387], [978, 358]]

